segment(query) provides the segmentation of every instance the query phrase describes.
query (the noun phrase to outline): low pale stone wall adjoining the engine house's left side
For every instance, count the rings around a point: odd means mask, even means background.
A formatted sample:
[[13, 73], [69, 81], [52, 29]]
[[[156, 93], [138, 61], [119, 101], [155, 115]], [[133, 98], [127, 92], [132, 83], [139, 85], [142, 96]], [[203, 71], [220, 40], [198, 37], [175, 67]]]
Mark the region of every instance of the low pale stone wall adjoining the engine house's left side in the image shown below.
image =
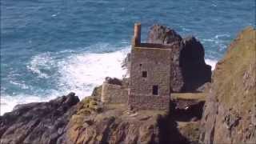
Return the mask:
[[102, 102], [127, 103], [128, 90], [121, 85], [114, 85], [104, 82], [102, 84]]

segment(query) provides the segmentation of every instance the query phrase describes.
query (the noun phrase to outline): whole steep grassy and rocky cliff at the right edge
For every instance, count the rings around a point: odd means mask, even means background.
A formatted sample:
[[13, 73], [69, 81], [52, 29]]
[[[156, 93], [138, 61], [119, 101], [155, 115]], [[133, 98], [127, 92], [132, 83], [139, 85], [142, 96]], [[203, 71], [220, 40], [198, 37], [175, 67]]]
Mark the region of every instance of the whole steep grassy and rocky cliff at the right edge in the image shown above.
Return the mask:
[[218, 62], [206, 99], [200, 141], [256, 143], [256, 30], [246, 28]]

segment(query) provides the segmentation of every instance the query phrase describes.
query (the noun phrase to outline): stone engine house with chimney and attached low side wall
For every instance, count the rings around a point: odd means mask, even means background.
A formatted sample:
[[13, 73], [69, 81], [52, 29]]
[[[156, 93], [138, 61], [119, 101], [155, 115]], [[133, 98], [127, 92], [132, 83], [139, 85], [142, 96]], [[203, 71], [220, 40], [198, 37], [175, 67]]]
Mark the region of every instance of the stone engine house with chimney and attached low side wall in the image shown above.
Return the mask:
[[[141, 24], [134, 25], [130, 54], [130, 78], [106, 78], [102, 84], [102, 102], [126, 103], [137, 110], [169, 110], [171, 48], [142, 43]], [[120, 82], [118, 82], [120, 81]]]

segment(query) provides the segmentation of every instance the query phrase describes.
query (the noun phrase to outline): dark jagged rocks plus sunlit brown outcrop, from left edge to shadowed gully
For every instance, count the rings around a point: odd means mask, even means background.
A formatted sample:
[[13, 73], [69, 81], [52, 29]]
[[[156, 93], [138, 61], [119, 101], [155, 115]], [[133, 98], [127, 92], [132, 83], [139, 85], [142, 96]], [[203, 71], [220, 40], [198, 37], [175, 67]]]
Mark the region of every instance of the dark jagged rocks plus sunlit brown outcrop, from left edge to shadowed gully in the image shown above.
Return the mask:
[[74, 93], [50, 102], [16, 106], [0, 117], [1, 144], [160, 143], [161, 111], [131, 111]]

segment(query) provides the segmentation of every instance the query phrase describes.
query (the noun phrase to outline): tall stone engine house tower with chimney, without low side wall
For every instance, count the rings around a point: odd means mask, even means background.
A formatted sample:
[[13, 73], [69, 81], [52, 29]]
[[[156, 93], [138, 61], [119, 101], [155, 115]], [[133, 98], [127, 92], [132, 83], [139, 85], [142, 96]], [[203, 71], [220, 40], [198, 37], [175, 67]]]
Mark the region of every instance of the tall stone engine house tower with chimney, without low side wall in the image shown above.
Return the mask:
[[141, 24], [134, 25], [128, 94], [130, 107], [169, 110], [170, 53], [170, 46], [142, 43]]

